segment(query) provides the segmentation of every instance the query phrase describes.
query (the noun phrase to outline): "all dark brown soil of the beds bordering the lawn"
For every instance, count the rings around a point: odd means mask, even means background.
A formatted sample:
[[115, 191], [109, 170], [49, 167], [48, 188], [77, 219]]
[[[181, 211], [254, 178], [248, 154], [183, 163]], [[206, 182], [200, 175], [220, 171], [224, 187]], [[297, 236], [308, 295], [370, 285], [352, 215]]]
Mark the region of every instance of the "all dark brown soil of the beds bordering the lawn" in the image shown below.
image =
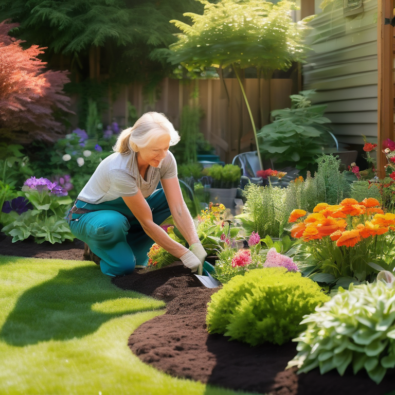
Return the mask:
[[[52, 245], [30, 241], [0, 242], [0, 254], [34, 258], [82, 260], [84, 243]], [[142, 324], [129, 337], [129, 346], [139, 358], [173, 376], [198, 380], [225, 388], [273, 395], [385, 395], [395, 389], [388, 371], [380, 385], [366, 373], [351, 370], [340, 378], [336, 371], [320, 375], [318, 369], [296, 374], [284, 370], [296, 354], [296, 344], [265, 344], [250, 347], [206, 331], [206, 304], [218, 289], [207, 289], [181, 263], [157, 271], [136, 270], [113, 278], [122, 289], [166, 301], [166, 314]]]

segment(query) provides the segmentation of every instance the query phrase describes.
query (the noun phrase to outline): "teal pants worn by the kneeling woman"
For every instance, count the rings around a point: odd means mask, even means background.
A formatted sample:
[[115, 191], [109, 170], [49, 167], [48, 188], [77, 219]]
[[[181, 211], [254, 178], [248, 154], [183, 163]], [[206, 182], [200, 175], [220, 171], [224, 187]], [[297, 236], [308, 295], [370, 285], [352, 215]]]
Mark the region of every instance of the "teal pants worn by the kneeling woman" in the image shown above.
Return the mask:
[[[170, 216], [163, 189], [157, 189], [146, 201], [155, 224], [160, 225]], [[70, 230], [100, 258], [104, 274], [122, 276], [132, 273], [135, 265], [148, 264], [147, 253], [154, 241], [142, 229], [122, 197], [99, 204], [77, 201], [76, 206], [98, 210], [73, 214]]]

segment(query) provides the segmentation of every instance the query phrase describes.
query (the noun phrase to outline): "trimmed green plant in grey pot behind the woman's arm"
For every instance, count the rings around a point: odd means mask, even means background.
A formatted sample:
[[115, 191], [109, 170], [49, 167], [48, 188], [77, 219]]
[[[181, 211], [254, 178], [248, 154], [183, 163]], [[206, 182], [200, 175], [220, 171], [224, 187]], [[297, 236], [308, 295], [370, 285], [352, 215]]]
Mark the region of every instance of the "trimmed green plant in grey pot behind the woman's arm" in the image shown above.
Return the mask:
[[237, 187], [240, 184], [241, 169], [236, 165], [212, 165], [208, 169], [211, 185], [208, 188], [210, 200], [222, 203], [227, 208], [235, 207]]

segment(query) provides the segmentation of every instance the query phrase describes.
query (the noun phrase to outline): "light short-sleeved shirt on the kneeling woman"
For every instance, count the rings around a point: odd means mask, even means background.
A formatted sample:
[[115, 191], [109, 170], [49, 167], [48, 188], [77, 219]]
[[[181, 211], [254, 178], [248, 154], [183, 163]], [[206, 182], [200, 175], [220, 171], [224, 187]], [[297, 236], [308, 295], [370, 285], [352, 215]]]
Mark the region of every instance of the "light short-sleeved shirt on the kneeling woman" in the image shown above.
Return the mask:
[[121, 196], [134, 196], [138, 190], [148, 197], [155, 191], [160, 179], [176, 176], [177, 164], [170, 151], [158, 167], [149, 166], [147, 181], [138, 171], [136, 152], [123, 155], [116, 152], [100, 162], [77, 199], [98, 204]]

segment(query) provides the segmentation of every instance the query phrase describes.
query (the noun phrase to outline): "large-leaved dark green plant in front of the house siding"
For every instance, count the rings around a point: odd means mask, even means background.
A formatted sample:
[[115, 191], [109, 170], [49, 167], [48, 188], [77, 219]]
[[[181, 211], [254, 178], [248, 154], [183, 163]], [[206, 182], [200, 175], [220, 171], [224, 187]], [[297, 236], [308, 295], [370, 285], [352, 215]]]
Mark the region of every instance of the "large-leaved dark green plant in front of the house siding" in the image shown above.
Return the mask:
[[265, 125], [258, 137], [262, 138], [261, 154], [273, 158], [279, 166], [292, 166], [300, 171], [313, 170], [314, 156], [329, 146], [331, 128], [324, 117], [326, 104], [311, 105], [308, 100], [314, 91], [291, 95], [290, 109], [272, 111], [273, 123]]

